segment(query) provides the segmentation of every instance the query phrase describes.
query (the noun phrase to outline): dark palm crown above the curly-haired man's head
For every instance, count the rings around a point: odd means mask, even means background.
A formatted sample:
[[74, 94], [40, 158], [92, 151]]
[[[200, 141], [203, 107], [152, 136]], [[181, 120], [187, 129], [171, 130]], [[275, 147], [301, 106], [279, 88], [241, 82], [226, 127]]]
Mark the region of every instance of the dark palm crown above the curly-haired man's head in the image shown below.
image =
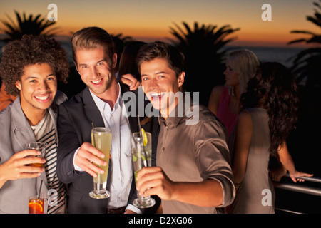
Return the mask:
[[33, 34], [33, 35], [55, 35], [54, 31], [57, 32], [58, 27], [51, 28], [56, 24], [56, 21], [49, 21], [46, 16], [38, 14], [36, 16], [29, 14], [27, 17], [24, 13], [22, 16], [14, 11], [16, 14], [16, 21], [18, 24], [11, 19], [9, 15], [6, 14], [7, 20], [0, 19], [1, 23], [4, 24], [6, 28], [1, 29], [6, 33], [8, 38], [4, 38], [2, 41], [9, 42], [15, 39], [21, 38], [24, 34]]

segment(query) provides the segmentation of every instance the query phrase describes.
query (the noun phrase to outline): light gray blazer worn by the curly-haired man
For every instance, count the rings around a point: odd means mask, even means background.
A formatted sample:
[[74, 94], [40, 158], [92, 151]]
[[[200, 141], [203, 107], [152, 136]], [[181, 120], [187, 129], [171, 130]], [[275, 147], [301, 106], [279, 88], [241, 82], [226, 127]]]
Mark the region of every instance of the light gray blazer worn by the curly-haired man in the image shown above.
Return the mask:
[[[58, 91], [54, 103], [49, 108], [57, 139], [57, 106], [65, 100], [67, 96]], [[21, 109], [19, 96], [1, 111], [0, 130], [0, 165], [9, 160], [14, 153], [24, 150], [25, 143], [36, 141], [34, 132]], [[9, 180], [4, 183], [0, 190], [0, 213], [28, 213], [28, 197], [38, 194], [41, 180], [44, 180], [41, 192], [48, 199], [49, 188], [45, 172], [36, 178]]]

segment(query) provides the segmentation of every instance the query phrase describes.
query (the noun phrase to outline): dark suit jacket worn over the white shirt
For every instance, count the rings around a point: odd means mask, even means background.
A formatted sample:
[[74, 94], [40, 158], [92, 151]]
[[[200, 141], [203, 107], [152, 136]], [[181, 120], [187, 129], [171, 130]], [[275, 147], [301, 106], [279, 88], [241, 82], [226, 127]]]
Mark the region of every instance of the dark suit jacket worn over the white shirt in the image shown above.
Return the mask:
[[[126, 91], [128, 91], [128, 88], [121, 86], [122, 95]], [[132, 94], [138, 96], [137, 91]], [[126, 100], [124, 100], [124, 103], [126, 103]], [[86, 87], [81, 93], [62, 103], [59, 106], [58, 113], [57, 175], [61, 182], [68, 185], [68, 213], [106, 213], [108, 199], [92, 199], [88, 195], [93, 190], [93, 177], [87, 172], [78, 172], [73, 167], [74, 152], [83, 142], [91, 142], [92, 123], [95, 127], [104, 126], [103, 118], [93, 101], [89, 88]], [[146, 122], [145, 117], [140, 116], [140, 119]], [[128, 120], [131, 132], [138, 132], [137, 117], [129, 116]], [[159, 124], [156, 117], [148, 118], [148, 120], [149, 122], [142, 127], [152, 134], [152, 157], [155, 165]], [[134, 178], [131, 185], [128, 203], [136, 198]]]

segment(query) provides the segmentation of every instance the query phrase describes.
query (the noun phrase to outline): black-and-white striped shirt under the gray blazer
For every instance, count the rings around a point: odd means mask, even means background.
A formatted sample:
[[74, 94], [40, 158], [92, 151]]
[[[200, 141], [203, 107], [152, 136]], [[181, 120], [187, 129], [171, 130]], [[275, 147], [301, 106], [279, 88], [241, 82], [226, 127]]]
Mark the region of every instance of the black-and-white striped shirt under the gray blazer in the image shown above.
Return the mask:
[[53, 214], [60, 209], [65, 201], [65, 190], [62, 182], [58, 180], [56, 173], [57, 165], [57, 144], [54, 128], [43, 135], [39, 142], [46, 143], [46, 177], [49, 185], [48, 214]]

